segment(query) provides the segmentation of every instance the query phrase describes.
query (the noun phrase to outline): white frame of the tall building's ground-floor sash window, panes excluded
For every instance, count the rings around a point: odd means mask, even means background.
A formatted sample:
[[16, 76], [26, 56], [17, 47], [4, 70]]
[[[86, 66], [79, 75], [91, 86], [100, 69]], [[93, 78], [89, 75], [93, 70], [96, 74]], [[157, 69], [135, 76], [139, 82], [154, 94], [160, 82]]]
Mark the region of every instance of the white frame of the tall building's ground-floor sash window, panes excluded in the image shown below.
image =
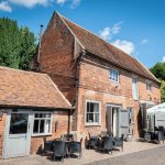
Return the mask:
[[[99, 122], [87, 122], [87, 103], [99, 103]], [[86, 106], [85, 106], [85, 125], [101, 125], [101, 102], [100, 101], [95, 101], [95, 100], [86, 100]]]

